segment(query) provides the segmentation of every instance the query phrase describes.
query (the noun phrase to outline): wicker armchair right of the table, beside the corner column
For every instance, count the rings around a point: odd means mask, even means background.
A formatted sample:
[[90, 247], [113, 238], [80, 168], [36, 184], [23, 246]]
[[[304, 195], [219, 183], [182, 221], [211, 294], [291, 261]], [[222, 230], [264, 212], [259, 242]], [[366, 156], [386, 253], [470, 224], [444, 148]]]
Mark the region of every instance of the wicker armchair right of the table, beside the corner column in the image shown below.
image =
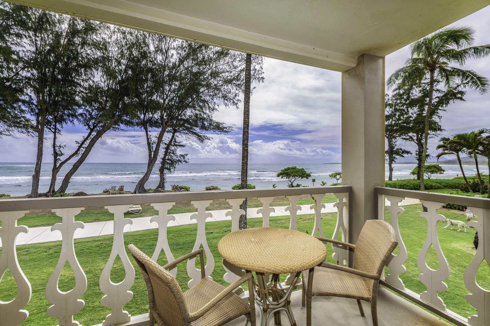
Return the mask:
[[360, 300], [370, 301], [372, 323], [378, 326], [378, 283], [386, 260], [398, 244], [392, 226], [377, 219], [366, 221], [356, 245], [333, 239], [317, 239], [354, 249], [353, 268], [324, 262], [314, 269], [303, 271], [302, 305], [306, 300], [306, 325], [311, 326], [311, 297], [331, 296], [357, 299], [361, 316], [364, 316], [364, 310]]

